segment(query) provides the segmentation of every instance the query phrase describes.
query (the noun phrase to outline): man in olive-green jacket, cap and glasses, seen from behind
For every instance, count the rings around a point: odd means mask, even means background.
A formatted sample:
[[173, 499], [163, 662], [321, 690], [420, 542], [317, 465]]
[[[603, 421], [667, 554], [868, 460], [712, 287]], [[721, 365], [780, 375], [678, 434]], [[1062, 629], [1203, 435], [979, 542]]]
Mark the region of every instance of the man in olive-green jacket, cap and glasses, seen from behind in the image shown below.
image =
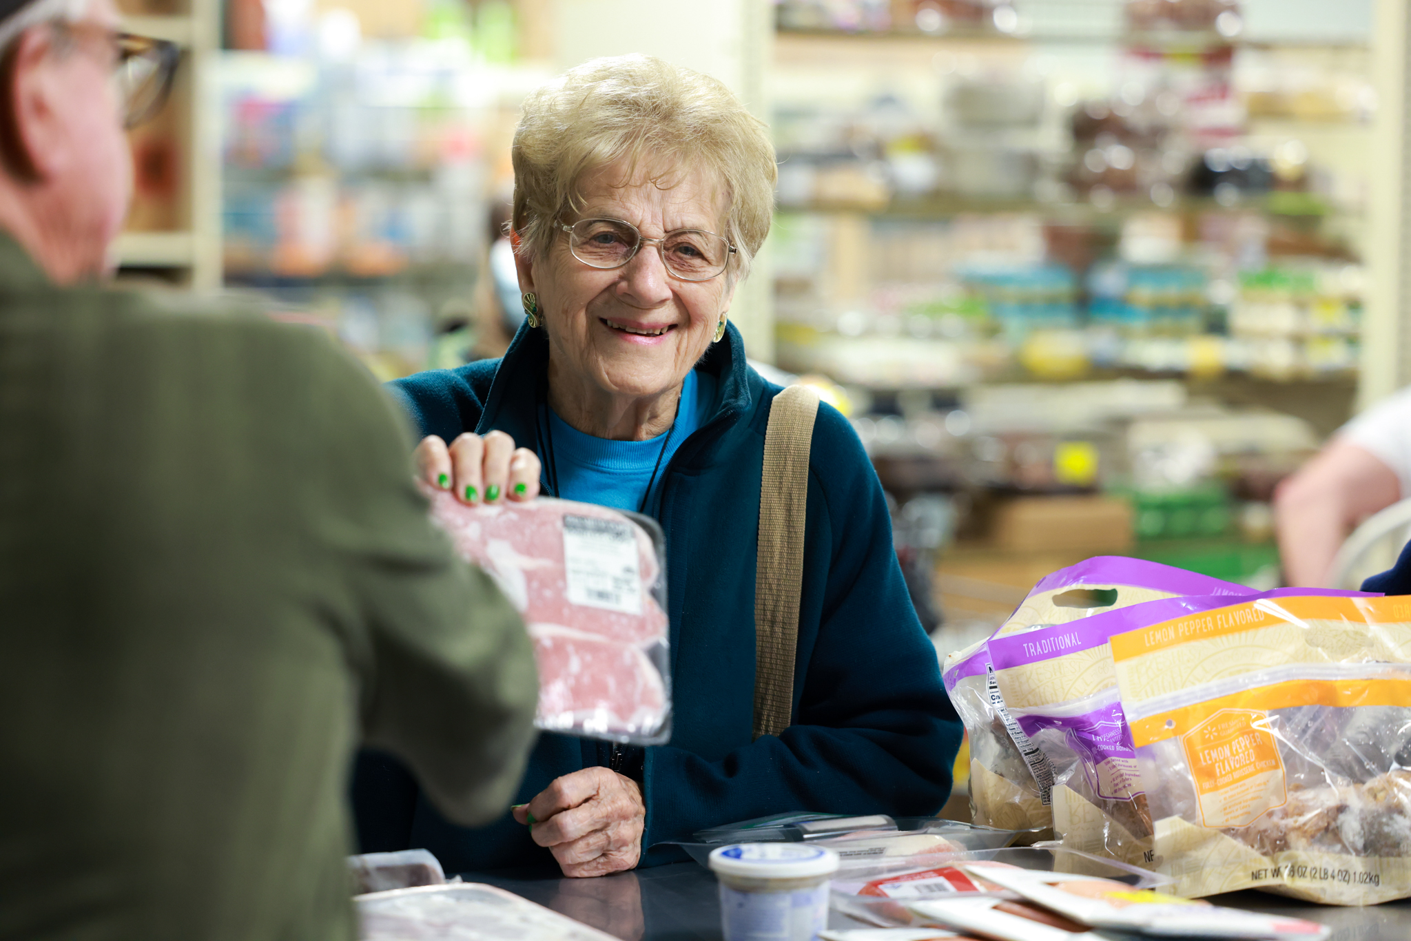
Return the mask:
[[169, 44], [0, 3], [0, 938], [353, 938], [360, 738], [504, 813], [536, 681], [326, 337], [95, 286]]

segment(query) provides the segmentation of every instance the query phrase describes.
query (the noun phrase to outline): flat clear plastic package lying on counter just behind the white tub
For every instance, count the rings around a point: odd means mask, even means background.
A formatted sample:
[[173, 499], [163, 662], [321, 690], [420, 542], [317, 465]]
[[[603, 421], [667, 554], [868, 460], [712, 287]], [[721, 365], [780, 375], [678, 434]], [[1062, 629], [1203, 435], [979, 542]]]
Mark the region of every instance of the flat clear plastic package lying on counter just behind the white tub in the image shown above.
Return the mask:
[[842, 817], [837, 814], [776, 814], [713, 827], [694, 834], [697, 842], [679, 842], [696, 862], [706, 865], [717, 846], [732, 842], [809, 842], [835, 852], [844, 866], [876, 859], [933, 856], [974, 849], [998, 849], [1015, 841], [1015, 831], [975, 827], [940, 817]]

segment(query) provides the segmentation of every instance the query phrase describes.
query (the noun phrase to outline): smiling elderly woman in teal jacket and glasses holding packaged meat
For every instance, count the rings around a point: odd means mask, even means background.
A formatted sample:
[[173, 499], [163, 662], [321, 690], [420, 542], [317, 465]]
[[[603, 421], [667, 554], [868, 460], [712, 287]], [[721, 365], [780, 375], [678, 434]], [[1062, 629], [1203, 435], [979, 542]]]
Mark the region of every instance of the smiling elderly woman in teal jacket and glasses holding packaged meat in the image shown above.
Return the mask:
[[684, 859], [658, 844], [779, 811], [938, 811], [959, 724], [882, 488], [825, 405], [809, 461], [793, 724], [752, 738], [761, 464], [780, 389], [749, 368], [728, 313], [769, 231], [766, 128], [704, 75], [597, 59], [525, 102], [514, 168], [523, 326], [502, 360], [395, 388], [426, 436], [418, 461], [433, 485], [470, 504], [543, 492], [660, 521], [672, 742], [543, 735], [521, 804], [483, 830], [449, 824], [387, 759], [364, 759], [364, 851], [426, 846], [447, 872], [552, 854], [566, 875], [595, 876]]

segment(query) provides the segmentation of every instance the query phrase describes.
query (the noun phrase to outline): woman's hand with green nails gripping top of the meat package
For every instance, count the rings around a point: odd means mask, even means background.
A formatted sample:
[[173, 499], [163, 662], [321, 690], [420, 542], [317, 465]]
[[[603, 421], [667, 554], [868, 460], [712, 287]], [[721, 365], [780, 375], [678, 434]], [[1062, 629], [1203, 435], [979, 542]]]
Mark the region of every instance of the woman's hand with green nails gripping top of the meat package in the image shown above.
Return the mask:
[[452, 491], [463, 504], [539, 495], [539, 456], [528, 447], [515, 447], [515, 440], [504, 432], [490, 432], [484, 437], [466, 432], [450, 447], [429, 435], [413, 453], [422, 480]]

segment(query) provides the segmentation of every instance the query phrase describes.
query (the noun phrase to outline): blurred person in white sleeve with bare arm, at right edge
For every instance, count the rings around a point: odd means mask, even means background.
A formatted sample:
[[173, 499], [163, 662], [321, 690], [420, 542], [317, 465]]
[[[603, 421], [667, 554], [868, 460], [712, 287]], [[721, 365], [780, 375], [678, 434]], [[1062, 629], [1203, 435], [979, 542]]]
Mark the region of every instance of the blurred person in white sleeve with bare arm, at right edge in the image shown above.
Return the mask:
[[1411, 389], [1401, 389], [1343, 425], [1312, 460], [1278, 485], [1274, 522], [1284, 580], [1291, 585], [1325, 585], [1338, 549], [1357, 523], [1407, 497]]

